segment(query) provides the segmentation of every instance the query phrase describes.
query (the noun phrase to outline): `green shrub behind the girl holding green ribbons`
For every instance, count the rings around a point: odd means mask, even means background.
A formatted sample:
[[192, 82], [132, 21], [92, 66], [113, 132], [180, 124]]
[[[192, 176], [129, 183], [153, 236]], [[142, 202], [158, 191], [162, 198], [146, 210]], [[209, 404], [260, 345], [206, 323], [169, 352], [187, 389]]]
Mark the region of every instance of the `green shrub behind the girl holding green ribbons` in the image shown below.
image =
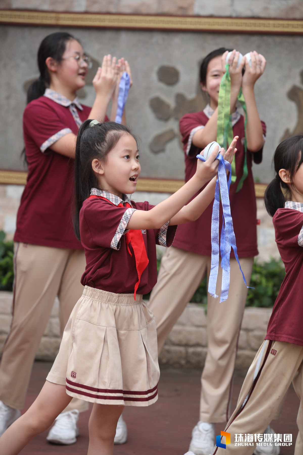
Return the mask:
[[[247, 307], [273, 307], [278, 296], [280, 286], [285, 277], [285, 268], [281, 259], [271, 259], [270, 262], [253, 262], [253, 273], [248, 289]], [[207, 282], [203, 279], [191, 302], [207, 304]]]

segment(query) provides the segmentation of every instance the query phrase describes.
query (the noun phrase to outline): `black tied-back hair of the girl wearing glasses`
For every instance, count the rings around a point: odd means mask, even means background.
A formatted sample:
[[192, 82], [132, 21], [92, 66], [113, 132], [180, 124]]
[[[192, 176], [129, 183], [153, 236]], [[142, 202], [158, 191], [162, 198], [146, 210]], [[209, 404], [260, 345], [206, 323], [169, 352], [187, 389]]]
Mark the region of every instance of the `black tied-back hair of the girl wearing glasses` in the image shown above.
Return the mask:
[[45, 63], [48, 57], [60, 62], [66, 50], [66, 42], [75, 38], [67, 32], [56, 32], [45, 36], [38, 49], [38, 68], [40, 76], [28, 88], [27, 103], [44, 95], [45, 88], [49, 86], [51, 80]]

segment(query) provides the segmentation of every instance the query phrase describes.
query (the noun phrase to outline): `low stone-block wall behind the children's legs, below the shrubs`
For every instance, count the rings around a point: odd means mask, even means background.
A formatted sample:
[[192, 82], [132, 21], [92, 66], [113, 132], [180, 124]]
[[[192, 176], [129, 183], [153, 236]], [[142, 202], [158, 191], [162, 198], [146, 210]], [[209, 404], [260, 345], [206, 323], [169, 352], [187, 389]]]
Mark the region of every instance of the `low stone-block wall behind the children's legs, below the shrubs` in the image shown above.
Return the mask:
[[[12, 293], [0, 292], [0, 352], [10, 329]], [[271, 308], [246, 308], [239, 337], [236, 369], [247, 371], [266, 334]], [[36, 359], [55, 359], [60, 346], [59, 302], [56, 299]], [[163, 365], [201, 368], [207, 351], [204, 308], [188, 303], [159, 357]]]

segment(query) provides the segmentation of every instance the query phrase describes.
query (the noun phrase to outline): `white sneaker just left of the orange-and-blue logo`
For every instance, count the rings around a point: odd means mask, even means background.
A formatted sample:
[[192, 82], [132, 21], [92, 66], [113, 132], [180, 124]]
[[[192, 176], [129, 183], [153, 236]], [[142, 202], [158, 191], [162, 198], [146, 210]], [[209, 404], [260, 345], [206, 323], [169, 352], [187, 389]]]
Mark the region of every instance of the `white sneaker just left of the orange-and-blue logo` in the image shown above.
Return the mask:
[[199, 420], [192, 430], [192, 440], [189, 451], [195, 455], [209, 455], [215, 446], [215, 424]]

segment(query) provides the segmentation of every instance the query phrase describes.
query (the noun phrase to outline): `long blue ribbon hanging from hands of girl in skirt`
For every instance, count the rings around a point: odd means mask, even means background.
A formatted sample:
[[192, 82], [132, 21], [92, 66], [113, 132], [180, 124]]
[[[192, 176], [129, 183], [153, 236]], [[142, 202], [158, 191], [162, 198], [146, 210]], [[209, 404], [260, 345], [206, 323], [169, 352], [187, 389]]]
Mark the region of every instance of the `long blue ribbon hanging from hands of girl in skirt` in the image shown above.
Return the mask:
[[[201, 161], [206, 161], [203, 155], [197, 155], [197, 158]], [[229, 203], [229, 187], [232, 181], [232, 166], [228, 161], [225, 161], [222, 155], [218, 154], [217, 160], [219, 160], [218, 167], [218, 179], [216, 182], [215, 200], [212, 207], [212, 262], [211, 272], [208, 281], [208, 292], [212, 297], [218, 297], [216, 295], [216, 285], [219, 269], [219, 209], [220, 209], [220, 188], [221, 188], [221, 201], [223, 208], [223, 225], [220, 239], [220, 253], [221, 253], [221, 267], [222, 267], [222, 287], [220, 302], [224, 302], [228, 297], [229, 281], [230, 281], [230, 252], [231, 247], [235, 253], [235, 258], [239, 264], [244, 283], [247, 286], [244, 273], [242, 272], [239, 258], [237, 255], [237, 246], [235, 233], [232, 226], [232, 215], [230, 212]], [[229, 177], [227, 182], [226, 169], [229, 171]]]

